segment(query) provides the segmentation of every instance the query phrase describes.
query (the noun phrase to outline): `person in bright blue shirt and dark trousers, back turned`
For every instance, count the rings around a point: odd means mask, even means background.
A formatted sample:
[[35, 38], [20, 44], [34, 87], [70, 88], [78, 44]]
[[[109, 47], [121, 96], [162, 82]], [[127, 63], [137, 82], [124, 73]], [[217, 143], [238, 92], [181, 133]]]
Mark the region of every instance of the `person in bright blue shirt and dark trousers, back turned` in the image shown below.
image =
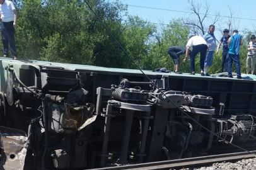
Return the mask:
[[238, 30], [233, 31], [233, 35], [228, 39], [228, 77], [233, 78], [232, 76], [232, 64], [233, 61], [236, 65], [236, 74], [237, 78], [241, 79], [241, 72], [240, 72], [240, 58], [239, 58], [239, 50], [240, 45], [243, 45], [243, 40], [241, 35], [238, 34]]

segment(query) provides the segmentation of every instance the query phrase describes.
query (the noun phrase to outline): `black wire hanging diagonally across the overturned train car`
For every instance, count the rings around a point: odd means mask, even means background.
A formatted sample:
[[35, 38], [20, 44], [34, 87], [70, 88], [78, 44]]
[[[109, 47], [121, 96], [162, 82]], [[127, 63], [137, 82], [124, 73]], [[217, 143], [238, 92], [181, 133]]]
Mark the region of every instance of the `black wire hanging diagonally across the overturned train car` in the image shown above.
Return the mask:
[[[149, 79], [149, 81], [173, 104], [177, 107], [178, 110], [180, 110], [182, 113], [184, 113], [186, 116], [188, 116], [192, 121], [194, 121], [195, 123], [197, 123], [197, 125], [201, 126], [202, 128], [204, 128], [207, 132], [212, 133], [213, 135], [215, 135], [216, 137], [218, 137], [218, 135], [216, 135], [215, 133], [211, 132], [211, 130], [207, 129], [206, 127], [204, 127], [203, 125], [201, 125], [201, 123], [197, 122], [196, 120], [194, 120], [194, 118], [192, 118], [191, 116], [189, 116], [187, 113], [185, 113], [185, 111], [183, 111], [180, 107], [178, 107], [170, 98], [168, 98], [168, 96], [166, 96], [165, 93], [163, 93], [163, 91], [161, 91], [160, 88], [158, 88], [156, 86], [156, 84], [154, 84], [154, 82], [143, 72], [143, 70], [141, 70], [141, 68], [139, 67], [139, 65], [136, 64], [136, 62], [130, 57], [130, 55], [126, 52], [126, 50], [124, 49], [124, 47], [122, 47], [122, 45], [119, 43], [119, 41], [115, 38], [115, 36], [113, 36], [112, 32], [108, 29], [108, 27], [103, 23], [102, 20], [100, 20], [100, 18], [98, 17], [98, 15], [95, 13], [95, 11], [93, 11], [93, 9], [91, 8], [91, 6], [88, 4], [88, 2], [86, 0], [84, 0], [84, 2], [87, 4], [88, 8], [92, 11], [93, 14], [95, 14], [96, 18], [98, 18], [98, 20], [100, 21], [100, 23], [102, 23], [102, 25], [104, 26], [104, 28], [108, 31], [108, 33], [110, 34], [110, 36], [115, 40], [115, 42], [119, 45], [119, 47], [124, 50], [125, 55], [127, 55], [127, 57], [132, 61], [132, 63], [134, 65], [136, 65], [137, 69], [139, 69], [139, 71], [141, 71], [141, 73], [147, 78]], [[254, 154], [255, 153], [251, 152], [250, 150], [247, 149], [243, 149], [242, 147], [232, 144], [231, 142], [229, 142], [228, 140], [225, 140], [221, 137], [218, 137], [219, 139], [223, 140], [224, 142], [227, 142], [228, 144], [233, 145], [234, 147], [237, 147], [238, 149], [244, 150], [246, 152], [249, 152], [250, 154]]]

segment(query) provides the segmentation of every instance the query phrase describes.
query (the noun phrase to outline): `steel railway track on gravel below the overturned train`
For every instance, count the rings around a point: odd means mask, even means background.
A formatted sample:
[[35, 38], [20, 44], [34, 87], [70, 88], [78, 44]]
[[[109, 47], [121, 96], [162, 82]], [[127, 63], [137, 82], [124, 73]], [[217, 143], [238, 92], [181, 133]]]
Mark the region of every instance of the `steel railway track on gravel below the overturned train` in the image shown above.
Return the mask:
[[[256, 154], [256, 150], [253, 150], [251, 152]], [[249, 152], [236, 152], [231, 154], [219, 154], [214, 156], [202, 156], [202, 157], [192, 157], [192, 158], [185, 158], [185, 159], [176, 159], [172, 161], [159, 161], [159, 162], [149, 162], [144, 164], [132, 164], [127, 166], [104, 167], [104, 168], [98, 168], [97, 170], [102, 170], [102, 169], [154, 170], [154, 169], [171, 169], [171, 168], [182, 168], [182, 167], [200, 167], [200, 166], [213, 164], [216, 162], [236, 162], [242, 159], [252, 159], [256, 157], [255, 154], [252, 154]]]

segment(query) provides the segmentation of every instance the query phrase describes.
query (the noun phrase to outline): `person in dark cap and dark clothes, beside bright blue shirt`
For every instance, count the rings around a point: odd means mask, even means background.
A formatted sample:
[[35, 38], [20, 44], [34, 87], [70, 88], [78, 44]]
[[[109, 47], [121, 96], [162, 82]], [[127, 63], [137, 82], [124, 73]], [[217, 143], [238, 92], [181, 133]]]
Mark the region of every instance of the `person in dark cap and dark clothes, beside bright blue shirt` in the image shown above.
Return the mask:
[[228, 29], [223, 30], [223, 37], [221, 37], [216, 51], [216, 54], [218, 54], [219, 47], [221, 47], [221, 44], [223, 43], [221, 72], [228, 71], [228, 39], [230, 38], [229, 32], [230, 30]]

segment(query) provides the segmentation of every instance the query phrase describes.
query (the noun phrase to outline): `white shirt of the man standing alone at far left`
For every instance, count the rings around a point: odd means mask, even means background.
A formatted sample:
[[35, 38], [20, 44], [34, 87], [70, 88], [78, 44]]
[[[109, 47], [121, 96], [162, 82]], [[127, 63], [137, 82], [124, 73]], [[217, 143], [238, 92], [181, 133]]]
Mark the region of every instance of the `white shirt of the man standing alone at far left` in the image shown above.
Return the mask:
[[10, 22], [15, 20], [13, 10], [15, 5], [12, 1], [5, 0], [3, 4], [0, 4], [1, 19], [3, 22]]

